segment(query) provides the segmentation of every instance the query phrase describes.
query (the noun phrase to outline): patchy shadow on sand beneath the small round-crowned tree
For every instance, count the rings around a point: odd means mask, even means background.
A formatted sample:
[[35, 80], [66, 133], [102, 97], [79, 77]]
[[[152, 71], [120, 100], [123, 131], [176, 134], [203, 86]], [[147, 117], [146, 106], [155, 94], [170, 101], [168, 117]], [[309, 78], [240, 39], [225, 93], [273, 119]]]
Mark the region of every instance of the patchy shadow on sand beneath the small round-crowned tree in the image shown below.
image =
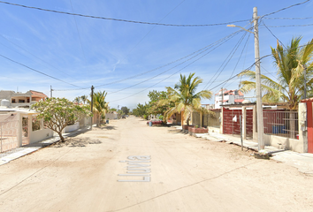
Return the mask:
[[57, 143], [51, 145], [51, 148], [85, 148], [88, 144], [101, 144], [102, 141], [86, 138], [67, 138], [65, 142], [57, 141]]

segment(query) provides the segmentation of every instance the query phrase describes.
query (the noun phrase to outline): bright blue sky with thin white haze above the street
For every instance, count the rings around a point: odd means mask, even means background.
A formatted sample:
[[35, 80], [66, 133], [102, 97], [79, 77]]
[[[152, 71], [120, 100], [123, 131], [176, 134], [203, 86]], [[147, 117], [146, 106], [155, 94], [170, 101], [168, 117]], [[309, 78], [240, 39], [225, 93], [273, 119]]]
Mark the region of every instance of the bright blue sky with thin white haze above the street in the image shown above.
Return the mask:
[[[55, 11], [165, 24], [200, 25], [245, 20], [234, 24], [248, 28], [252, 27], [249, 20], [252, 18], [253, 7], [257, 7], [259, 16], [263, 16], [304, 0], [8, 2]], [[300, 35], [302, 44], [305, 44], [313, 38], [313, 26], [281, 26], [310, 25], [313, 24], [313, 19], [272, 18], [309, 18], [312, 17], [311, 11], [313, 2], [309, 1], [262, 19], [259, 29], [261, 57], [271, 54], [271, 46], [275, 47], [277, 44], [277, 39], [263, 24], [285, 45], [294, 36]], [[1, 3], [0, 12], [0, 55], [19, 62], [16, 64], [0, 57], [0, 90], [26, 92], [32, 89], [50, 95], [51, 85], [55, 89], [54, 96], [73, 100], [76, 96], [89, 95], [88, 87], [94, 85], [95, 92], [108, 92], [107, 101], [112, 108], [119, 105], [133, 109], [138, 102], [149, 102], [147, 95], [150, 90], [161, 91], [165, 87], [173, 87], [179, 80], [179, 73], [195, 72], [196, 76], [203, 79], [199, 88], [208, 88], [214, 94], [220, 87], [236, 89], [240, 78], [219, 84], [254, 63], [253, 34], [249, 36], [244, 31], [217, 48], [215, 46], [198, 56], [195, 53], [187, 57], [240, 30], [226, 27], [226, 24], [212, 27], [143, 25], [58, 14]], [[225, 62], [239, 42], [233, 57]], [[183, 59], [179, 60], [180, 58]], [[219, 68], [223, 63], [226, 65], [221, 70]], [[34, 72], [21, 64], [66, 83]], [[261, 65], [263, 74], [276, 77], [271, 57], [264, 58]], [[139, 76], [133, 78], [135, 75]], [[120, 81], [117, 82], [118, 80]], [[105, 85], [108, 83], [111, 84]], [[213, 102], [213, 99], [202, 101]]]

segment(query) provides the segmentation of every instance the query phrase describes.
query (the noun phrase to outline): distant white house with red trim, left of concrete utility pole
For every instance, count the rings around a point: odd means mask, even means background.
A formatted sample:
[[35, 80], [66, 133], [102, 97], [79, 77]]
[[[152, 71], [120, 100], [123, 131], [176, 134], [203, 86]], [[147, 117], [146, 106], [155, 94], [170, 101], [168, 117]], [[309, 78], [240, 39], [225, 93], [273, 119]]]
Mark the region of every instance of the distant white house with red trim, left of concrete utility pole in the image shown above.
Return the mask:
[[222, 104], [240, 104], [244, 100], [244, 95], [240, 90], [227, 90], [224, 88], [215, 95], [215, 109], [220, 109]]

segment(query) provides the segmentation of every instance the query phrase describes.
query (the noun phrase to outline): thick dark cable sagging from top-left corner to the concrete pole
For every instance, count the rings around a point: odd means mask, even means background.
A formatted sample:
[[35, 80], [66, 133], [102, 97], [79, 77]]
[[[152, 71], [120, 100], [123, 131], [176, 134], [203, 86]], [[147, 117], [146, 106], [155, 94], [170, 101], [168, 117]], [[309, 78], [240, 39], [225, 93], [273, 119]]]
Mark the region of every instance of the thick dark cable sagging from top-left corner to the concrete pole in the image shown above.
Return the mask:
[[13, 6], [19, 6], [19, 7], [24, 7], [24, 8], [34, 9], [34, 10], [39, 10], [39, 11], [50, 11], [50, 12], [55, 12], [55, 13], [60, 13], [60, 14], [65, 14], [65, 15], [80, 16], [80, 17], [84, 17], [84, 18], [106, 19], [106, 20], [122, 21], [122, 22], [134, 23], [134, 24], [159, 25], [159, 26], [166, 26], [166, 27], [212, 27], [212, 26], [233, 24], [233, 23], [238, 23], [238, 22], [245, 22], [245, 21], [249, 20], [249, 19], [235, 20], [235, 21], [231, 21], [231, 22], [216, 23], [216, 24], [178, 25], [178, 24], [164, 24], [164, 23], [155, 23], [155, 22], [128, 20], [128, 19], [113, 19], [113, 18], [106, 18], [106, 17], [100, 17], [100, 16], [83, 15], [83, 14], [67, 12], [67, 11], [55, 11], [55, 10], [50, 10], [50, 9], [43, 9], [40, 7], [27, 6], [27, 5], [23, 5], [23, 4], [13, 4], [13, 3], [4, 2], [4, 1], [0, 1], [0, 3], [10, 4]]

